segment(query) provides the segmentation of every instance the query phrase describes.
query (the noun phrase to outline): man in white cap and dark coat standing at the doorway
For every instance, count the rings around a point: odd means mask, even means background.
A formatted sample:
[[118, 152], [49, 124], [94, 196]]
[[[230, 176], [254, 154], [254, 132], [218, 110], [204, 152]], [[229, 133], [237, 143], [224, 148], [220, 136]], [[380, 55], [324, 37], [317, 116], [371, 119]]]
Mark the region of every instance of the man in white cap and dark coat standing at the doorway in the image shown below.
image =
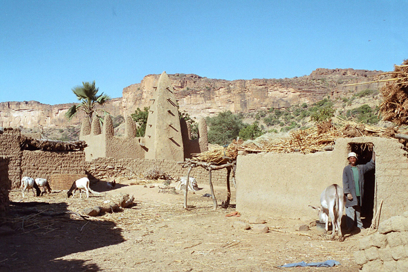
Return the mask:
[[351, 232], [357, 221], [357, 226], [364, 229], [360, 213], [362, 197], [364, 195], [364, 174], [375, 167], [375, 152], [371, 161], [366, 164], [357, 164], [357, 154], [350, 152], [347, 156], [349, 165], [343, 170], [343, 190], [346, 195], [346, 224], [347, 232]]

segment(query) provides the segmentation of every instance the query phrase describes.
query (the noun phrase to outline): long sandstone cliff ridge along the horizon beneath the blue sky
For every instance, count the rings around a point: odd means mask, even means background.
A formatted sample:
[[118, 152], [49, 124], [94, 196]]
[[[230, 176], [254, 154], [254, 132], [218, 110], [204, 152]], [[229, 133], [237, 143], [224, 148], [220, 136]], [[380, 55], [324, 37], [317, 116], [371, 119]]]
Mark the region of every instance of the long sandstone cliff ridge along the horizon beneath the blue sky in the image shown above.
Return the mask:
[[[368, 82], [382, 71], [354, 69], [316, 69], [310, 75], [284, 79], [216, 80], [194, 74], [169, 75], [180, 106], [192, 117], [214, 116], [221, 111], [234, 113], [290, 107], [312, 103], [330, 96], [340, 98], [364, 89], [379, 89], [382, 84], [344, 87]], [[146, 75], [138, 84], [125, 87], [122, 98], [114, 98], [104, 109], [113, 116], [129, 116], [139, 107], [149, 107], [160, 75]], [[66, 121], [65, 112], [73, 104], [45, 105], [36, 101], [1, 102], [0, 127], [67, 127], [79, 118]]]

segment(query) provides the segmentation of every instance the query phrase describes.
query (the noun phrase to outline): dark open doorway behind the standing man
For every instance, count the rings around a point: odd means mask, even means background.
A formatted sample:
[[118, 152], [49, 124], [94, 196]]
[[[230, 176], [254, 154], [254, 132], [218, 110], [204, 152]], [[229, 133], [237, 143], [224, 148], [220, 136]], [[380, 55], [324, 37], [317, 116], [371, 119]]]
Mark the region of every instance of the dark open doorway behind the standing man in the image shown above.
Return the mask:
[[[351, 152], [358, 156], [357, 164], [366, 164], [373, 157], [372, 143], [349, 143]], [[375, 168], [364, 174], [364, 197], [361, 206], [361, 219], [364, 228], [371, 226], [375, 203]]]

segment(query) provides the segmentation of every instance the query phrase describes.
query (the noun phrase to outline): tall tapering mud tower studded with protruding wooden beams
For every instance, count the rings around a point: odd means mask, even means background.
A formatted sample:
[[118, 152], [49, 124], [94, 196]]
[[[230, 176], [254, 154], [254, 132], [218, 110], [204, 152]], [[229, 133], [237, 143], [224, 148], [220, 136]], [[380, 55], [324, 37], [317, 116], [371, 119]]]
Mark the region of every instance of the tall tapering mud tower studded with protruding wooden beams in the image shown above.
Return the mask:
[[160, 75], [151, 98], [145, 133], [145, 158], [184, 161], [178, 105], [169, 75]]

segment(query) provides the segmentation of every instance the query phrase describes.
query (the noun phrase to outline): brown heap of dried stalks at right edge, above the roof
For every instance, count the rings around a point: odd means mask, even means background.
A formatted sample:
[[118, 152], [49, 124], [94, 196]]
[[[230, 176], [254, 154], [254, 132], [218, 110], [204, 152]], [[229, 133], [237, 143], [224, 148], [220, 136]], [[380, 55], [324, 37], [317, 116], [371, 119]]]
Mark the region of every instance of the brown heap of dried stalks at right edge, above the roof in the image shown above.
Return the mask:
[[393, 72], [384, 73], [390, 75], [384, 87], [381, 88], [384, 101], [380, 105], [380, 112], [384, 120], [396, 123], [396, 125], [408, 124], [408, 60], [402, 65], [394, 66]]

